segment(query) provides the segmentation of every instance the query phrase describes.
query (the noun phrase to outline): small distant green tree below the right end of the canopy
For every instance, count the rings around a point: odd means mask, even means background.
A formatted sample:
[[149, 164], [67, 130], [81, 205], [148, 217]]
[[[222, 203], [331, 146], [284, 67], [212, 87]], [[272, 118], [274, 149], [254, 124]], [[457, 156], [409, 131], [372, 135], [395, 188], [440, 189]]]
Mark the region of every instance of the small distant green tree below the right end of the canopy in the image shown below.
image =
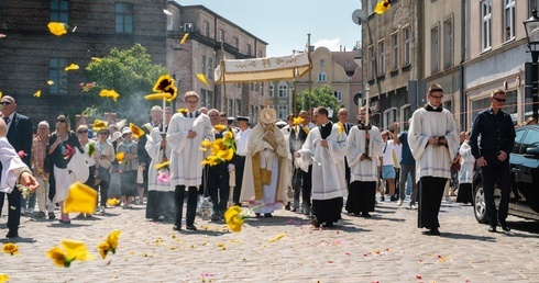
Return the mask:
[[301, 110], [308, 110], [310, 100], [311, 107], [324, 106], [327, 109], [332, 109], [334, 111], [334, 113], [339, 111], [339, 102], [331, 88], [324, 84], [320, 88], [314, 88], [311, 92], [312, 94], [309, 95], [309, 91], [305, 90], [296, 97], [296, 113]]

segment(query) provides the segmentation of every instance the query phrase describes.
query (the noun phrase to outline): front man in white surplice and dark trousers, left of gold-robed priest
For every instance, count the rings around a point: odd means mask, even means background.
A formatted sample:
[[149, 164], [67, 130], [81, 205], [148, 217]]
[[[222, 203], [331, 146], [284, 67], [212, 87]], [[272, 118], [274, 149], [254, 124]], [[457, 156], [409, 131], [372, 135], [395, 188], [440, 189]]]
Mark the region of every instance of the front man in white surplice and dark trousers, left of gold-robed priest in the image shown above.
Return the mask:
[[195, 215], [197, 213], [197, 190], [202, 183], [201, 165], [205, 156], [199, 149], [204, 139], [213, 140], [213, 132], [208, 115], [197, 111], [200, 97], [195, 91], [185, 93], [184, 102], [187, 113], [176, 113], [170, 120], [166, 133], [166, 143], [172, 148], [170, 184], [175, 188], [176, 213], [174, 229], [182, 229], [184, 194], [188, 188], [186, 228], [196, 230]]

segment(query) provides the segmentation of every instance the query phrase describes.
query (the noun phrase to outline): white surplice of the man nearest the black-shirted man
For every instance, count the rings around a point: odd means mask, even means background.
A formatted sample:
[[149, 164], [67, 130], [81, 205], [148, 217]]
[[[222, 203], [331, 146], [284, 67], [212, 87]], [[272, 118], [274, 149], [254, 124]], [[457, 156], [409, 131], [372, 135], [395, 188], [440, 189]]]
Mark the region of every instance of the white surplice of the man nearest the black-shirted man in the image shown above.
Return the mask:
[[[440, 136], [446, 137], [447, 146], [429, 145], [430, 137]], [[416, 110], [408, 129], [408, 144], [416, 159], [416, 180], [426, 176], [451, 178], [451, 160], [459, 149], [459, 133], [451, 112]]]

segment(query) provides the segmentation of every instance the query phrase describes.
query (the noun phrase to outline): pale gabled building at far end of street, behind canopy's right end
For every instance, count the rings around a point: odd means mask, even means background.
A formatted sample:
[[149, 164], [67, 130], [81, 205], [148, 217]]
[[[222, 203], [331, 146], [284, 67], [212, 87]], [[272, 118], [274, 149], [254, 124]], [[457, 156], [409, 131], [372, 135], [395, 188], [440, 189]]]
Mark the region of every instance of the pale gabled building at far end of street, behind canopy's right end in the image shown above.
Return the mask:
[[[350, 122], [356, 123], [358, 104], [354, 103], [354, 97], [361, 92], [360, 56], [360, 49], [330, 52], [327, 47], [316, 48], [310, 53], [312, 61], [310, 73], [298, 78], [295, 82], [296, 93], [308, 91], [309, 84], [311, 89], [327, 84], [333, 91], [339, 105], [349, 110]], [[289, 110], [292, 110], [292, 104], [289, 105]], [[333, 115], [337, 116], [339, 110], [333, 111]], [[286, 115], [284, 118], [286, 120]]]

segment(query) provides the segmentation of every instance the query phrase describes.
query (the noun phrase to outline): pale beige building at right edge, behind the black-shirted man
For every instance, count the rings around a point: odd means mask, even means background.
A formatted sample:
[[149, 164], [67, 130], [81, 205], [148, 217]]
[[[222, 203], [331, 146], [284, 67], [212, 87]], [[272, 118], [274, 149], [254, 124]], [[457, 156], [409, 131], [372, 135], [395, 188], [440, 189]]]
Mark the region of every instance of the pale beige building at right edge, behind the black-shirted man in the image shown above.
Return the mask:
[[[504, 111], [512, 114], [515, 124], [532, 115], [531, 91], [526, 92], [525, 63], [531, 61], [522, 21], [531, 16], [536, 0], [469, 1], [466, 11], [466, 49], [463, 64], [465, 76], [466, 120], [469, 127], [479, 111], [488, 107], [488, 95], [494, 89], [504, 89], [507, 101]], [[539, 41], [539, 34], [532, 34]], [[531, 78], [530, 78], [531, 79]], [[536, 78], [537, 79], [537, 78]], [[537, 101], [536, 101], [537, 103]]]

